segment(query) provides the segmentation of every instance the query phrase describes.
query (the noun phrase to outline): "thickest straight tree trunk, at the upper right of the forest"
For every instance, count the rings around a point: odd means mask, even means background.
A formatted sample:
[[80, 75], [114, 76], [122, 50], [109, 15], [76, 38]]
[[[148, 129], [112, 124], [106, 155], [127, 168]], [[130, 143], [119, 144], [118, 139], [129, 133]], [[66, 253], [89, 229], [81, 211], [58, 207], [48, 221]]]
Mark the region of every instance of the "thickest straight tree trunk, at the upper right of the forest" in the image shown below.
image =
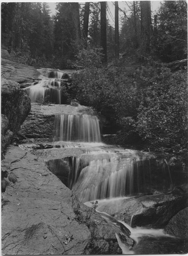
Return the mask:
[[150, 1], [141, 1], [141, 54], [149, 53], [151, 31], [151, 4]]

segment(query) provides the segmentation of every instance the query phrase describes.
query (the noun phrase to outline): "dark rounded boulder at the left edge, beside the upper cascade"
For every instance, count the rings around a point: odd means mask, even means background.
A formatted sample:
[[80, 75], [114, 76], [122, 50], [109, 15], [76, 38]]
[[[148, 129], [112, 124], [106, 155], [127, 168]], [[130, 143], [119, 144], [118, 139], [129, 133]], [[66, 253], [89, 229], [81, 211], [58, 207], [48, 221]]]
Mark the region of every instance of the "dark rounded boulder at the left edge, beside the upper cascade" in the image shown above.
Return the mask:
[[2, 79], [2, 152], [31, 110], [31, 101], [17, 82]]

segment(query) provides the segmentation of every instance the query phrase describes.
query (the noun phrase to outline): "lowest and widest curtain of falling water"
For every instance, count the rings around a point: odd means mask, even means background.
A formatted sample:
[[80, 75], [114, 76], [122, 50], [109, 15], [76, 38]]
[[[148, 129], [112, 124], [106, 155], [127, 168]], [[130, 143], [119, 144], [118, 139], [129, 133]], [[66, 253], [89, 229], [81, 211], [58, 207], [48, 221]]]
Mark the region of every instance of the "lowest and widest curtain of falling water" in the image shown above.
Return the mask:
[[88, 166], [79, 166], [79, 172], [73, 169], [72, 172], [76, 173], [74, 177], [77, 178], [71, 184], [79, 200], [87, 202], [170, 191], [172, 180], [164, 163], [158, 163], [155, 159], [142, 159], [136, 152], [131, 151], [131, 154], [131, 157], [124, 158], [109, 154], [109, 159], [95, 159]]

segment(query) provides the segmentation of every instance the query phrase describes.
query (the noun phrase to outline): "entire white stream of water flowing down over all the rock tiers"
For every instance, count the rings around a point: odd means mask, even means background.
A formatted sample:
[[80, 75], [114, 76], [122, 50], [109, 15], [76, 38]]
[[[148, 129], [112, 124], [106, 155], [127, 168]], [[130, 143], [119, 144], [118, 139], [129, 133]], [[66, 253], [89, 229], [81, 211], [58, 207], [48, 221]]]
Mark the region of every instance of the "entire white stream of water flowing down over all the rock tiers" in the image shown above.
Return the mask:
[[[61, 104], [61, 77], [60, 72], [50, 73], [48, 78], [24, 90], [32, 101], [49, 96], [52, 102]], [[76, 153], [71, 154], [74, 151]], [[131, 223], [129, 226], [115, 218], [112, 220], [112, 216], [102, 212], [105, 211], [104, 205], [109, 210], [109, 207], [118, 206], [118, 202], [124, 199], [171, 191], [173, 182], [166, 160], [157, 159], [152, 153], [102, 143], [99, 120], [88, 114], [57, 115], [53, 129], [53, 148], [45, 153], [41, 151], [40, 154], [45, 154], [43, 156], [47, 159], [47, 166], [57, 176], [65, 170], [65, 161], [61, 157], [65, 155], [69, 163], [67, 169], [70, 168], [70, 171], [62, 178], [64, 184], [88, 206], [91, 206], [91, 201], [98, 200], [98, 212], [106, 221], [121, 228], [124, 225], [130, 231], [130, 238], [136, 242], [131, 251], [116, 233], [123, 254], [145, 254], [139, 246], [146, 240], [154, 241], [157, 248], [161, 241], [177, 242], [177, 239], [165, 234], [163, 229], [132, 228]], [[155, 252], [152, 249], [148, 251]], [[162, 249], [163, 252], [166, 250]]]

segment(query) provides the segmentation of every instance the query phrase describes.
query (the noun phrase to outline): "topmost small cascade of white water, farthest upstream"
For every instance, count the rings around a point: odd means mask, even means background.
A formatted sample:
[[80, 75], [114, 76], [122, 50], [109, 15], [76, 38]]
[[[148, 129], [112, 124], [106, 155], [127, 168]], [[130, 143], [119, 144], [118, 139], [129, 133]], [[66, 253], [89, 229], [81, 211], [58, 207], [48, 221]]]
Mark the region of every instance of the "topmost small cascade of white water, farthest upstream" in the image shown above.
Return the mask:
[[53, 71], [37, 84], [26, 87], [23, 90], [30, 97], [32, 102], [42, 102], [47, 99], [49, 102], [61, 104], [61, 83], [63, 73]]

